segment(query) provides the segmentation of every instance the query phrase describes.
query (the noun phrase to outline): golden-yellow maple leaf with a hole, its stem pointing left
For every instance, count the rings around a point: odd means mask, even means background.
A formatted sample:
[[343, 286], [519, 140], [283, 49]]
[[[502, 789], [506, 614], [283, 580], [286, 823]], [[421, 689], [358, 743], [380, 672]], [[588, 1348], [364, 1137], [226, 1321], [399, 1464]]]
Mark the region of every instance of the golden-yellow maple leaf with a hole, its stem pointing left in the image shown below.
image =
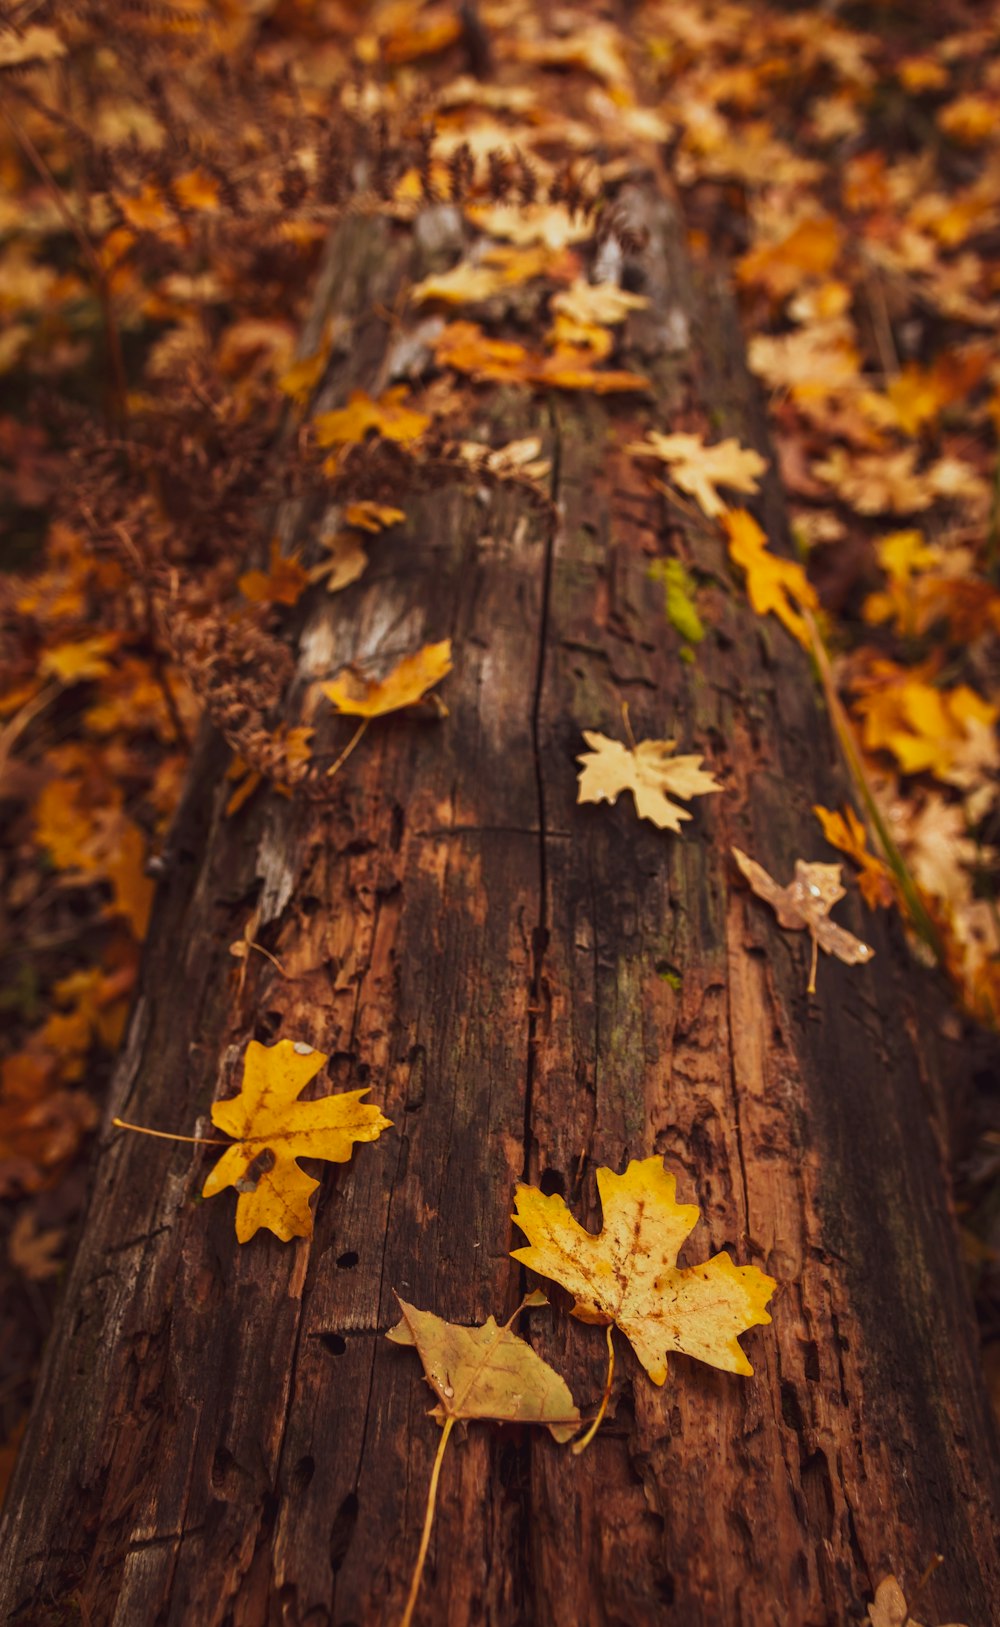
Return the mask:
[[[377, 1141], [390, 1119], [377, 1106], [363, 1103], [364, 1090], [343, 1090], [319, 1101], [298, 1097], [327, 1064], [324, 1051], [280, 1040], [260, 1045], [250, 1040], [244, 1059], [239, 1095], [215, 1101], [211, 1123], [236, 1141], [210, 1171], [203, 1197], [215, 1197], [228, 1186], [239, 1189], [236, 1237], [241, 1243], [267, 1227], [288, 1243], [312, 1237], [309, 1199], [319, 1181], [299, 1167], [298, 1158], [325, 1158], [346, 1163], [356, 1142]], [[267, 1163], [254, 1176], [250, 1167]], [[254, 1181], [247, 1189], [247, 1181]]]

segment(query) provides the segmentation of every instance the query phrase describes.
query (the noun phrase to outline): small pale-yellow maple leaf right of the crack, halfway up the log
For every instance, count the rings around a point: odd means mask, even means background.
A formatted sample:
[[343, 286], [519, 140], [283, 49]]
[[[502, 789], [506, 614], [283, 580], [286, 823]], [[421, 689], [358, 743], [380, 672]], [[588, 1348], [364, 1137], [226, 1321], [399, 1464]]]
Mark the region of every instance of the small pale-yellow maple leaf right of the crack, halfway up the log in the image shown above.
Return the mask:
[[623, 745], [595, 729], [584, 729], [590, 747], [577, 757], [582, 763], [579, 802], [615, 802], [621, 791], [631, 791], [639, 818], [652, 820], [660, 830], [680, 831], [681, 820], [691, 818], [675, 797], [704, 797], [722, 791], [717, 779], [701, 766], [701, 753], [675, 757], [673, 740], [639, 740]]

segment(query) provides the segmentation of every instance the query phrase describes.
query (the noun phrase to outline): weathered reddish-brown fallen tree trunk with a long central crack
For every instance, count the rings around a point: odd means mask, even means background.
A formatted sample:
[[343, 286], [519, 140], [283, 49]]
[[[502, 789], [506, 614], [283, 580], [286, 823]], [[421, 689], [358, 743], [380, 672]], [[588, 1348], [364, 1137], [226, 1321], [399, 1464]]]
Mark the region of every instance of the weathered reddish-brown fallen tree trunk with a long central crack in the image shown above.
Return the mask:
[[[761, 444], [732, 316], [654, 216], [631, 360], [657, 423], [696, 405]], [[364, 312], [410, 254], [397, 228], [341, 234], [358, 347], [337, 400], [385, 382]], [[624, 417], [478, 392], [470, 433], [545, 434], [554, 532], [509, 491], [403, 498], [405, 535], [311, 605], [302, 682], [450, 635], [446, 721], [372, 726], [332, 804], [260, 794], [234, 818], [226, 753], [202, 744], [111, 1111], [193, 1131], [246, 1043], [288, 1036], [395, 1129], [322, 1167], [311, 1243], [242, 1248], [233, 1194], [198, 1201], [215, 1149], [107, 1136], [8, 1502], [5, 1620], [398, 1619], [437, 1429], [415, 1355], [384, 1337], [392, 1289], [454, 1321], [509, 1313], [514, 1181], [597, 1228], [595, 1167], [654, 1152], [702, 1206], [689, 1258], [725, 1246], [780, 1284], [745, 1341], [756, 1375], [680, 1357], [657, 1389], [621, 1346], [582, 1458], [472, 1427], [418, 1619], [821, 1627], [938, 1551], [920, 1617], [997, 1619], [997, 1459], [924, 984], [852, 895], [839, 914], [876, 958], [824, 960], [810, 999], [803, 934], [738, 883], [730, 841], [787, 879], [823, 853], [811, 804], [846, 786], [805, 656], [615, 451]], [[780, 543], [774, 485], [763, 517]], [[704, 584], [694, 662], [649, 576], [678, 550]], [[623, 701], [637, 737], [676, 735], [725, 781], [683, 838], [628, 797], [574, 804], [580, 729], [618, 732]], [[255, 901], [285, 976], [252, 955], [241, 984], [229, 944]], [[592, 1409], [603, 1339], [548, 1311], [527, 1326]]]

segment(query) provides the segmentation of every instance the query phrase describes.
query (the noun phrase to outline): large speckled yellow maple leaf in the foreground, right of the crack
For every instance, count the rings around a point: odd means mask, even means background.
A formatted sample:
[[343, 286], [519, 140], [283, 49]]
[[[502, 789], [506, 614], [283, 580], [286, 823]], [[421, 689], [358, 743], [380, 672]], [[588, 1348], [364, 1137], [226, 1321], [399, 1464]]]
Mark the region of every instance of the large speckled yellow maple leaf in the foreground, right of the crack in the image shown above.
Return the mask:
[[624, 1175], [597, 1171], [603, 1230], [584, 1230], [558, 1194], [519, 1183], [514, 1222], [528, 1238], [511, 1254], [574, 1295], [572, 1315], [620, 1328], [654, 1385], [667, 1378], [667, 1354], [680, 1350], [727, 1373], [753, 1373], [737, 1336], [769, 1323], [777, 1284], [724, 1251], [680, 1267], [681, 1243], [699, 1217], [678, 1204], [662, 1158], [633, 1158]]

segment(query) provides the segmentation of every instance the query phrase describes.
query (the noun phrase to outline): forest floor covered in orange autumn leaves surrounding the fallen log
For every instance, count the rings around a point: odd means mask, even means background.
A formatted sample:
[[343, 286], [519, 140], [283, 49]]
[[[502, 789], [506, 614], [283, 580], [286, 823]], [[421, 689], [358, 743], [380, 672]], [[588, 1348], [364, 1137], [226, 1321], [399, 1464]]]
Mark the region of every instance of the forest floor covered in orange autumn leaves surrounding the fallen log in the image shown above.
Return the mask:
[[[291, 794], [309, 731], [272, 734], [252, 674], [392, 524], [348, 508], [312, 569], [262, 532], [337, 462], [302, 430], [275, 454], [350, 345], [298, 351], [330, 226], [462, 212], [457, 264], [385, 312], [403, 382], [354, 403], [348, 439], [408, 444], [489, 381], [641, 394], [641, 277], [611, 286], [641, 171], [727, 270], [769, 403], [808, 576], [777, 597], [829, 659], [857, 792], [810, 857], [902, 913], [969, 1035], [959, 1217], [1000, 1404], [1000, 5], [112, 10], [0, 7], [0, 1494], [198, 718], [234, 747], [228, 817]], [[698, 581], [662, 576], [698, 643]], [[250, 921], [234, 976], [252, 947]]]

